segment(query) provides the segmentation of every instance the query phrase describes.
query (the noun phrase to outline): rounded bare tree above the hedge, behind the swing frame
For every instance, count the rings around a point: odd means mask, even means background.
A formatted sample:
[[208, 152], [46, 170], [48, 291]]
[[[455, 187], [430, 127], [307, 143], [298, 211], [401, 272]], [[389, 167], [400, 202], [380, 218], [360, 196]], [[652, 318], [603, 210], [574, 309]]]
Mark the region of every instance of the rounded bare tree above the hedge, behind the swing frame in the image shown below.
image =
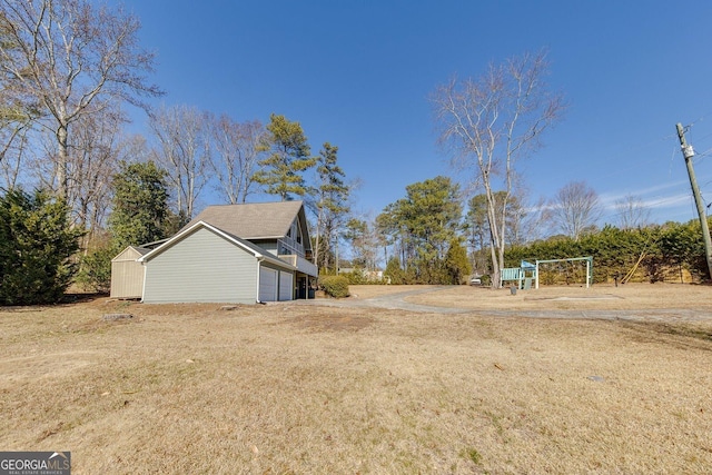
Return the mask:
[[562, 232], [575, 240], [593, 229], [602, 215], [599, 195], [584, 181], [573, 181], [560, 189], [550, 210]]

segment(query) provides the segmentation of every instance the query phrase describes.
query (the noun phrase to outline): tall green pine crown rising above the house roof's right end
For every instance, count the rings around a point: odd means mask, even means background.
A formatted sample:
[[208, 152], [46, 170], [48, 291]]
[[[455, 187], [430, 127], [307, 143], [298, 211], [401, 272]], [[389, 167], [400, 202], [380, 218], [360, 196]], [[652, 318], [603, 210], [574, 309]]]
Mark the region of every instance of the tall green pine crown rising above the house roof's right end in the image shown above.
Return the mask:
[[314, 167], [316, 159], [309, 157], [312, 149], [301, 126], [273, 113], [267, 131], [270, 155], [259, 161], [263, 169], [255, 174], [255, 181], [283, 201], [294, 199], [295, 195], [308, 195], [310, 190], [301, 174]]

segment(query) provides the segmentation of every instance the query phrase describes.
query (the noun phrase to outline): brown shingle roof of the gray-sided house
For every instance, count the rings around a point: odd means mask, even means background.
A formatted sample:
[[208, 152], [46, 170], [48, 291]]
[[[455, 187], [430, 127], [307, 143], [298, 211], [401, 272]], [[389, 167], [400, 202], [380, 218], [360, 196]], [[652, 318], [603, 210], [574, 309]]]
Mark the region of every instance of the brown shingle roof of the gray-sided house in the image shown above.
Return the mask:
[[243, 239], [281, 238], [301, 206], [301, 201], [209, 206], [182, 229], [204, 221]]

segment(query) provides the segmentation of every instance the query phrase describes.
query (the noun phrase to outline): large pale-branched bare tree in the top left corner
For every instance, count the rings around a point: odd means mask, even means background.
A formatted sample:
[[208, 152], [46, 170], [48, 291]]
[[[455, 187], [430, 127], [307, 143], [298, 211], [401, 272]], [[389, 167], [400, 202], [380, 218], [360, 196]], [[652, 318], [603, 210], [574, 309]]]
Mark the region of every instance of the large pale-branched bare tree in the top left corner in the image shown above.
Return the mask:
[[144, 106], [160, 95], [146, 82], [154, 55], [138, 44], [139, 21], [89, 0], [0, 0], [0, 72], [38, 107], [37, 122], [52, 132], [57, 190], [70, 196], [71, 128], [109, 102]]

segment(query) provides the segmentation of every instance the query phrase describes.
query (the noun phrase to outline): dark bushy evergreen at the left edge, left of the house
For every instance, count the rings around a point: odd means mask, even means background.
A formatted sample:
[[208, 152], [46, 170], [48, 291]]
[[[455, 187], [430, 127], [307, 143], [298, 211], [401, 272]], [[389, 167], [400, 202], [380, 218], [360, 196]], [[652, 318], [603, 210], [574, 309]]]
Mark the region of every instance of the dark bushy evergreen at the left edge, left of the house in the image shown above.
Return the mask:
[[10, 189], [0, 197], [0, 305], [53, 304], [75, 274], [71, 256], [81, 229], [72, 229], [67, 204], [38, 190]]

